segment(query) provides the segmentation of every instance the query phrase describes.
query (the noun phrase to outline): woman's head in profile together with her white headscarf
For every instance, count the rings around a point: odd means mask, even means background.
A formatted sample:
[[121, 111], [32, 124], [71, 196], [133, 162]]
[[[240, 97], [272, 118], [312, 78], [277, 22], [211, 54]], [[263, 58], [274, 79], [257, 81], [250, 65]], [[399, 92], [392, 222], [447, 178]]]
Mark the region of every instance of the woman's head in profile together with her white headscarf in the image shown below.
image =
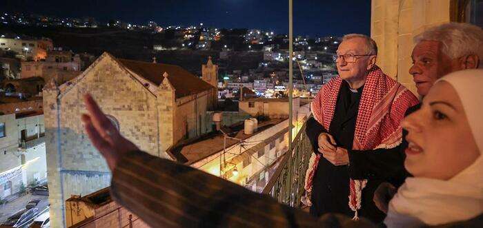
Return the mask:
[[421, 109], [404, 119], [409, 143], [404, 166], [414, 177], [389, 203], [387, 227], [467, 220], [483, 227], [482, 87], [483, 70], [444, 76]]

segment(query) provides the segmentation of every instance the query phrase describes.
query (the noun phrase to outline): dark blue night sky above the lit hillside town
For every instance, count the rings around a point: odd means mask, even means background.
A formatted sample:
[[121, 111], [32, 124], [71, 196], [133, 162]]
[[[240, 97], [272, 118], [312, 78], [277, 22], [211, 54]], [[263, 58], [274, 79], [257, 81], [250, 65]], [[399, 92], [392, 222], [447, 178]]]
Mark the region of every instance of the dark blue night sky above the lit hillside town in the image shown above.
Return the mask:
[[[0, 11], [288, 32], [288, 0], [3, 0]], [[371, 0], [294, 0], [294, 34], [370, 34]]]

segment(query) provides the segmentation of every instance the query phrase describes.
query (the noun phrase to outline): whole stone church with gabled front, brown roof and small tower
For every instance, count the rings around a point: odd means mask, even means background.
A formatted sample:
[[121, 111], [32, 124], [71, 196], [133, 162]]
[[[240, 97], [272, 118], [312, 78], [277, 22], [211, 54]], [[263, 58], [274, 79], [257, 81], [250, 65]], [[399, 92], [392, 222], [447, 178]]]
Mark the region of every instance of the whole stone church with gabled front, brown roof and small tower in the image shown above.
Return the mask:
[[83, 94], [90, 93], [121, 134], [155, 156], [175, 143], [210, 132], [206, 111], [217, 103], [217, 65], [201, 79], [177, 65], [116, 59], [103, 53], [75, 79], [43, 90], [50, 220], [65, 227], [65, 200], [110, 185], [110, 172], [84, 132]]

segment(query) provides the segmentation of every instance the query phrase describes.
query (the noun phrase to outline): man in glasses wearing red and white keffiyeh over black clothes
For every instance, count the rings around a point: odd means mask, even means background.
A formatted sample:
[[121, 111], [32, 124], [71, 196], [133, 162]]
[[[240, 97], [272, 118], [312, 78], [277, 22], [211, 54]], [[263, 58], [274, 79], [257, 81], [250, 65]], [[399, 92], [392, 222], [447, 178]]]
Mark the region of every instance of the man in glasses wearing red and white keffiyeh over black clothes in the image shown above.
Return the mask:
[[[373, 194], [386, 180], [375, 170], [361, 176], [361, 156], [374, 156], [371, 150], [400, 144], [404, 113], [417, 98], [375, 65], [377, 45], [362, 34], [348, 34], [337, 50], [339, 76], [322, 87], [311, 104], [313, 118], [307, 134], [315, 151], [306, 176], [311, 192], [311, 214], [364, 216], [380, 222], [384, 213], [373, 203]], [[374, 162], [399, 163], [400, 158], [376, 156]], [[402, 167], [402, 165], [395, 165]], [[383, 167], [384, 168], [384, 167]]]

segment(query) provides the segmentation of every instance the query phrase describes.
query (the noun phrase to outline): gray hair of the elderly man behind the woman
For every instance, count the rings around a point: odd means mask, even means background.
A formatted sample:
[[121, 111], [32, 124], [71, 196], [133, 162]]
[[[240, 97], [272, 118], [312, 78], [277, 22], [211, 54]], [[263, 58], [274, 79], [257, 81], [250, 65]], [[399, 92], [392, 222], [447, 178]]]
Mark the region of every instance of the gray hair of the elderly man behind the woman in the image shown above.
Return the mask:
[[[469, 23], [444, 23], [430, 28], [414, 37], [414, 43], [438, 41], [442, 52], [451, 59], [467, 54], [477, 54], [483, 61], [483, 30]], [[483, 64], [480, 63], [480, 68]]]

